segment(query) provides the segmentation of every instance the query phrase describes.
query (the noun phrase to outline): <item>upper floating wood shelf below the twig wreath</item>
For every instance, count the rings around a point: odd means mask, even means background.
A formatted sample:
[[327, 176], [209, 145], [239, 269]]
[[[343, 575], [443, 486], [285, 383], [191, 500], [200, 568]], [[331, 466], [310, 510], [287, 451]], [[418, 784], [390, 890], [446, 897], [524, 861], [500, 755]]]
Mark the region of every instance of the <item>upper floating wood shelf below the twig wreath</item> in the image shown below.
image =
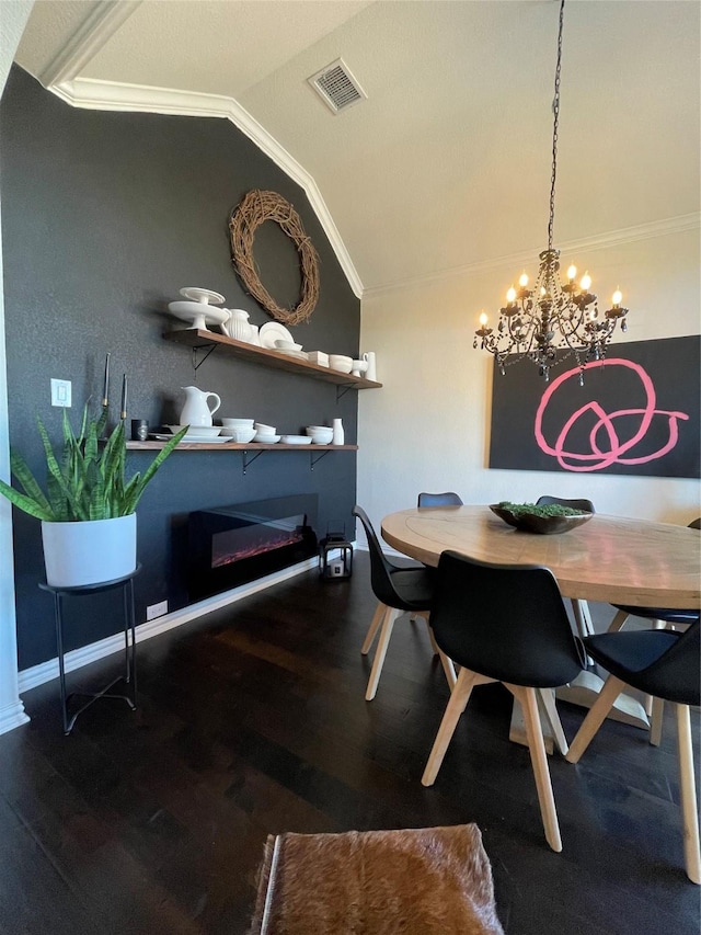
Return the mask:
[[[251, 364], [263, 364], [266, 367], [275, 367], [278, 370], [287, 370], [290, 374], [300, 374], [306, 377], [312, 377], [313, 379], [347, 387], [348, 389], [379, 389], [382, 386], [381, 383], [366, 380], [364, 377], [353, 377], [350, 374], [342, 374], [330, 367], [320, 367], [318, 364], [312, 364], [309, 361], [302, 361], [298, 357], [290, 357], [288, 354], [280, 354], [278, 351], [268, 351], [266, 347], [246, 344], [244, 341], [234, 341], [233, 338], [227, 338], [225, 334], [216, 334], [214, 331], [185, 328], [177, 331], [166, 331], [163, 338], [166, 341], [174, 341], [176, 344], [184, 344], [186, 347], [208, 349], [209, 351], [220, 347], [223, 353], [240, 357]], [[278, 446], [276, 445], [275, 447]], [[336, 445], [336, 447], [341, 446]]]

